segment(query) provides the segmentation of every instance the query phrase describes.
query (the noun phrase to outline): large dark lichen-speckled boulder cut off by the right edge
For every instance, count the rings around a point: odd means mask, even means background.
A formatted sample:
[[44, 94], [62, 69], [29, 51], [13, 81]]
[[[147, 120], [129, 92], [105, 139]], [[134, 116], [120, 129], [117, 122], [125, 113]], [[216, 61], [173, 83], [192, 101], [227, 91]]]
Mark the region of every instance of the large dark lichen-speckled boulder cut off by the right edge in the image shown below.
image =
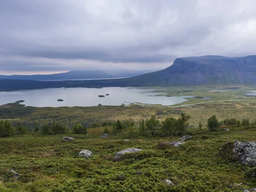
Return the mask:
[[256, 165], [256, 141], [236, 141], [233, 152], [233, 156], [241, 163], [249, 166]]

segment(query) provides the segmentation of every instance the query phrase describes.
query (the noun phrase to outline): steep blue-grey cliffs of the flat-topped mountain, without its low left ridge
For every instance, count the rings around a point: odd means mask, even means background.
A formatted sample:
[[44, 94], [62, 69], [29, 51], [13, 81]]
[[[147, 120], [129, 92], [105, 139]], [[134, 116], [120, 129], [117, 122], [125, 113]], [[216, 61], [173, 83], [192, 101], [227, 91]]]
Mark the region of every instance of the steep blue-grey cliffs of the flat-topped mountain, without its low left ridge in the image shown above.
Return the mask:
[[159, 85], [251, 84], [256, 83], [256, 55], [177, 58], [164, 70], [133, 79]]

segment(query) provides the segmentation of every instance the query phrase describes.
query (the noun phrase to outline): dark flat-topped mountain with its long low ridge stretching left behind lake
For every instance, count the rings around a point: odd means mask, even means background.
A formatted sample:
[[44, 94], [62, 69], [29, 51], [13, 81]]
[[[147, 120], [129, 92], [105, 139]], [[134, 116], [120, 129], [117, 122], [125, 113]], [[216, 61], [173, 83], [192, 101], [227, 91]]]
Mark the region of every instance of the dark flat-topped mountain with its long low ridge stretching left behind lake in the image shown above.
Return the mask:
[[206, 55], [177, 58], [164, 70], [124, 79], [90, 81], [0, 80], [0, 90], [49, 87], [141, 87], [176, 85], [256, 84], [256, 55], [223, 57]]

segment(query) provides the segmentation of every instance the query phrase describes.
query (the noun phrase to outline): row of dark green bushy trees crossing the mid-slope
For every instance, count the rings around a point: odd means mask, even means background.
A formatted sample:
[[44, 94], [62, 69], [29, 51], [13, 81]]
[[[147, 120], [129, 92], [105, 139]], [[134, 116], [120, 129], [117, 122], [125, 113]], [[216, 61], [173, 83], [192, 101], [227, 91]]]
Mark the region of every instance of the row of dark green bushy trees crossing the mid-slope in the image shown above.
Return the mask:
[[[180, 113], [180, 116], [175, 119], [173, 117], [168, 117], [162, 122], [160, 122], [155, 115], [151, 115], [149, 119], [142, 119], [140, 122], [136, 122], [132, 119], [126, 119], [120, 121], [102, 121], [102, 123], [93, 122], [88, 127], [97, 128], [105, 127], [105, 134], [118, 134], [121, 132], [128, 133], [129, 138], [134, 137], [151, 137], [151, 136], [181, 136], [187, 133], [189, 128], [190, 116], [185, 113]], [[218, 121], [215, 115], [211, 116], [207, 121], [207, 128], [209, 131], [217, 131], [222, 125], [227, 126], [247, 126], [248, 128], [256, 128], [256, 121], [249, 121], [249, 119], [242, 119], [242, 121], [231, 118]], [[198, 129], [202, 129], [204, 126], [201, 121], [198, 124]], [[111, 131], [110, 131], [111, 130]], [[9, 121], [0, 121], [0, 137], [9, 137], [13, 134], [26, 134], [27, 128], [24, 125], [17, 123], [15, 126]], [[87, 126], [81, 123], [73, 124], [72, 128], [67, 128], [66, 125], [60, 124], [58, 122], [49, 122], [44, 125], [36, 125], [32, 131], [38, 133], [41, 131], [42, 134], [64, 134], [67, 131], [73, 131], [75, 134], [87, 134]]]

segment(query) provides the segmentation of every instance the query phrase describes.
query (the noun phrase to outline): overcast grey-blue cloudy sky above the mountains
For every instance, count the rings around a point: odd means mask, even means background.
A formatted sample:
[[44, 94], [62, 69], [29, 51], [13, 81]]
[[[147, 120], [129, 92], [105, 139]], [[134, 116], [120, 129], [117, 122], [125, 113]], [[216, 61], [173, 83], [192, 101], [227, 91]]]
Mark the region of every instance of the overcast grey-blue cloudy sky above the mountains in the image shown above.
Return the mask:
[[255, 55], [256, 0], [0, 0], [0, 74]]

